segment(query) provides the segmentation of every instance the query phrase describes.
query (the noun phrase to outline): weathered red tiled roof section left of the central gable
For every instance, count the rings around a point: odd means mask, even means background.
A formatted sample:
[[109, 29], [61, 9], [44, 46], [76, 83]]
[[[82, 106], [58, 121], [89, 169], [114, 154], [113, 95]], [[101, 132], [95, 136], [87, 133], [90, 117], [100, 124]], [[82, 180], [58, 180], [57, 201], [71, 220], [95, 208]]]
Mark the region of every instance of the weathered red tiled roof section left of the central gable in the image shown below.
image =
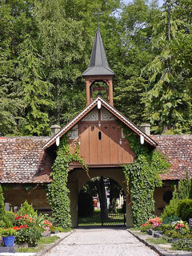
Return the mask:
[[0, 137], [0, 183], [50, 182], [52, 163], [42, 146], [50, 137]]

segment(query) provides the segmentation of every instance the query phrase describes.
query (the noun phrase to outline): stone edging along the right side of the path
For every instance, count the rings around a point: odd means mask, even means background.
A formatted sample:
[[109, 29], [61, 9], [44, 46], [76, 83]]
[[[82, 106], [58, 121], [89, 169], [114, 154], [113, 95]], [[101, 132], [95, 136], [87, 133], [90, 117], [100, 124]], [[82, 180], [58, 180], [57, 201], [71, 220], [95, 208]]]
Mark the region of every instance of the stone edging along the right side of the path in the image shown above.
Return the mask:
[[155, 246], [154, 244], [147, 242], [145, 239], [142, 239], [138, 234], [135, 234], [134, 232], [132, 232], [132, 230], [127, 230], [130, 234], [133, 234], [135, 238], [138, 238], [138, 240], [142, 243], [144, 243], [146, 246], [150, 247], [150, 249], [154, 250], [156, 253], [158, 253], [160, 256], [192, 256], [192, 253], [181, 253], [179, 254], [178, 251], [173, 253], [168, 253], [166, 252], [166, 250], [163, 250], [162, 248], [160, 248], [159, 246]]

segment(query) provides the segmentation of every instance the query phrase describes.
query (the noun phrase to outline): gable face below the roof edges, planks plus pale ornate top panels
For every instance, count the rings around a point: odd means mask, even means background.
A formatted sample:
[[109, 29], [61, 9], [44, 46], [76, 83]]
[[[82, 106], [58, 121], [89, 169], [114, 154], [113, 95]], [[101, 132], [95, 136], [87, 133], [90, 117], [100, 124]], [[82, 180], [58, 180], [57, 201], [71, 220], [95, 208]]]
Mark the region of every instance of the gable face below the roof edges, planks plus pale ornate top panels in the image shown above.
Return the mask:
[[95, 107], [68, 132], [70, 151], [76, 143], [89, 166], [117, 166], [134, 162], [134, 152], [123, 138], [122, 126], [106, 108]]

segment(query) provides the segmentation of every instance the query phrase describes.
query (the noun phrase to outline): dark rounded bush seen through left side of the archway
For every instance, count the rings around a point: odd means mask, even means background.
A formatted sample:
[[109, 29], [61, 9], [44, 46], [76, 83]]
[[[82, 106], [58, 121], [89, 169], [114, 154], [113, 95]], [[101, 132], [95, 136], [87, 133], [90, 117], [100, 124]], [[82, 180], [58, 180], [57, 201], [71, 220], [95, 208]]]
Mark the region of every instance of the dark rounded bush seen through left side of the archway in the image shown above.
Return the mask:
[[89, 192], [80, 191], [78, 196], [78, 216], [90, 217], [94, 214], [94, 201]]

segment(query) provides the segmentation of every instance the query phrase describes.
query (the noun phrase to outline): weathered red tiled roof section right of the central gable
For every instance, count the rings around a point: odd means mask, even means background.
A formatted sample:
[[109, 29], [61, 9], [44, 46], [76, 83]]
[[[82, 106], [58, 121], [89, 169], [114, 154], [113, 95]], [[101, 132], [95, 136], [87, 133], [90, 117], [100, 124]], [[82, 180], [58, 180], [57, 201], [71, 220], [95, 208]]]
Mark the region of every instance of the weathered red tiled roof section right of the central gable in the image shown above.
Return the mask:
[[168, 173], [161, 174], [162, 180], [186, 178], [186, 171], [192, 177], [192, 134], [151, 136], [158, 143], [157, 149], [168, 157], [171, 164]]

